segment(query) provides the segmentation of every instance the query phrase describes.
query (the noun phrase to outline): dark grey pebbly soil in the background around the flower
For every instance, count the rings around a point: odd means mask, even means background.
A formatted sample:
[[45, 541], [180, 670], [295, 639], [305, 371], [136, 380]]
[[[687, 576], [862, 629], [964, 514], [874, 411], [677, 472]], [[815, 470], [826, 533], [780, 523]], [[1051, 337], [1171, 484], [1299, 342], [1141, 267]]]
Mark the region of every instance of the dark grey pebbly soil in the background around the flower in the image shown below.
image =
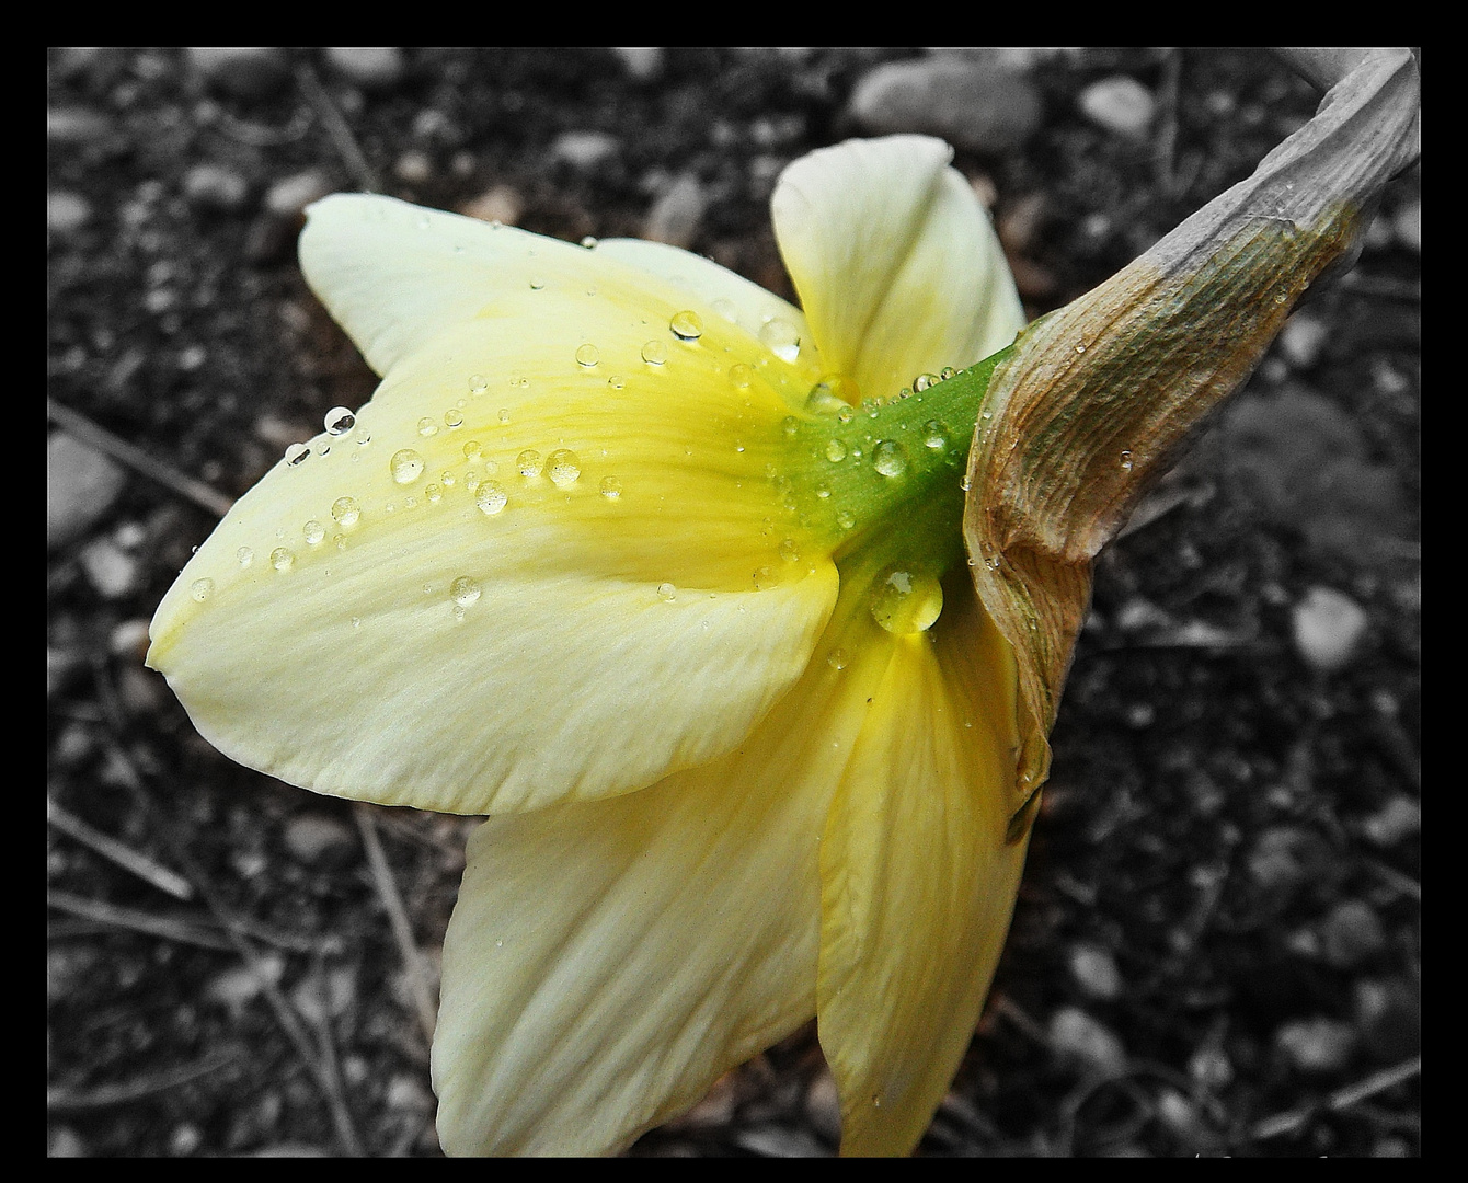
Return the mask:
[[[142, 454], [48, 550], [50, 1154], [439, 1154], [385, 885], [432, 972], [468, 823], [241, 769], [141, 665], [216, 520], [159, 464], [233, 499], [373, 390], [301, 280], [299, 205], [376, 182], [639, 235], [691, 175], [688, 245], [788, 294], [778, 169], [854, 134], [857, 79], [920, 53], [405, 50], [401, 75], [354, 82], [282, 51], [241, 82], [182, 50], [48, 51], [51, 427], [84, 430], [70, 411]], [[994, 194], [1035, 314], [1317, 103], [1255, 51], [1026, 69], [1036, 126], [956, 164]], [[1083, 113], [1116, 75], [1155, 95], [1149, 131]], [[1009, 948], [920, 1154], [1420, 1154], [1418, 208], [1412, 170], [1355, 272], [1102, 555]], [[1324, 650], [1301, 634], [1317, 616]], [[631, 1152], [829, 1152], [832, 1123], [807, 1029]]]

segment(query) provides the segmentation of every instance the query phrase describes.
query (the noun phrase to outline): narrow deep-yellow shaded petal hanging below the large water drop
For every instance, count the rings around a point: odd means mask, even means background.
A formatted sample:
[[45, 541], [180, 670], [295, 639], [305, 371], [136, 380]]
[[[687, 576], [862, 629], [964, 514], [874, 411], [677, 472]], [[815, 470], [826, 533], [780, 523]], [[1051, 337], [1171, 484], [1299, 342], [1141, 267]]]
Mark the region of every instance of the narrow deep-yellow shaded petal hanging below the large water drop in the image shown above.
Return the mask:
[[843, 1154], [916, 1146], [969, 1046], [1025, 859], [1006, 842], [1013, 658], [962, 569], [945, 590], [931, 638], [887, 637], [821, 847], [818, 1010]]

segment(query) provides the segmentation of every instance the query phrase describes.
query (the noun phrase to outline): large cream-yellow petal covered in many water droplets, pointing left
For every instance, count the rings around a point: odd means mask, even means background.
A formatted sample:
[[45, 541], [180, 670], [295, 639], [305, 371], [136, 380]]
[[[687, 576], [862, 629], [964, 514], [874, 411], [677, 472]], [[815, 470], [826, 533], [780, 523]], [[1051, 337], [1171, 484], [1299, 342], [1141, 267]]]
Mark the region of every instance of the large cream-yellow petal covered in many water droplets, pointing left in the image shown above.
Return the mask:
[[680, 338], [687, 295], [644, 282], [603, 260], [515, 283], [236, 503], [153, 624], [206, 738], [321, 793], [484, 813], [749, 734], [837, 594], [766, 478], [804, 379], [712, 313]]

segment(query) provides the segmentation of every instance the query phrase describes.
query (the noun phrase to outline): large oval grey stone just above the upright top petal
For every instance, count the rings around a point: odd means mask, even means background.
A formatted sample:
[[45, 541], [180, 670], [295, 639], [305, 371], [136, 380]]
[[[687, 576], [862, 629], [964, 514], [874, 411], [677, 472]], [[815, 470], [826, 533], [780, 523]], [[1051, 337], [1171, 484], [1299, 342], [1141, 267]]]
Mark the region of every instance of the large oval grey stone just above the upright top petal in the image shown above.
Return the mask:
[[1044, 112], [1029, 76], [1001, 59], [925, 57], [866, 73], [851, 94], [850, 114], [875, 135], [937, 135], [997, 156], [1023, 144]]

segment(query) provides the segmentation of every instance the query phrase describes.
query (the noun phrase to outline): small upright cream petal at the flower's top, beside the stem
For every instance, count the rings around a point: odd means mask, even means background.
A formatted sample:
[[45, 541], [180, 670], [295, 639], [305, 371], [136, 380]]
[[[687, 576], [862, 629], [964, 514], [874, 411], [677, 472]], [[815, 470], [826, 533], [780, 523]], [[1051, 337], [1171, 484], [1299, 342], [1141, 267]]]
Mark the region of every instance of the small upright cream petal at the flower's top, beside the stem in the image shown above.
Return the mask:
[[940, 139], [894, 135], [802, 157], [771, 201], [825, 364], [893, 398], [966, 368], [1025, 323], [989, 216]]

